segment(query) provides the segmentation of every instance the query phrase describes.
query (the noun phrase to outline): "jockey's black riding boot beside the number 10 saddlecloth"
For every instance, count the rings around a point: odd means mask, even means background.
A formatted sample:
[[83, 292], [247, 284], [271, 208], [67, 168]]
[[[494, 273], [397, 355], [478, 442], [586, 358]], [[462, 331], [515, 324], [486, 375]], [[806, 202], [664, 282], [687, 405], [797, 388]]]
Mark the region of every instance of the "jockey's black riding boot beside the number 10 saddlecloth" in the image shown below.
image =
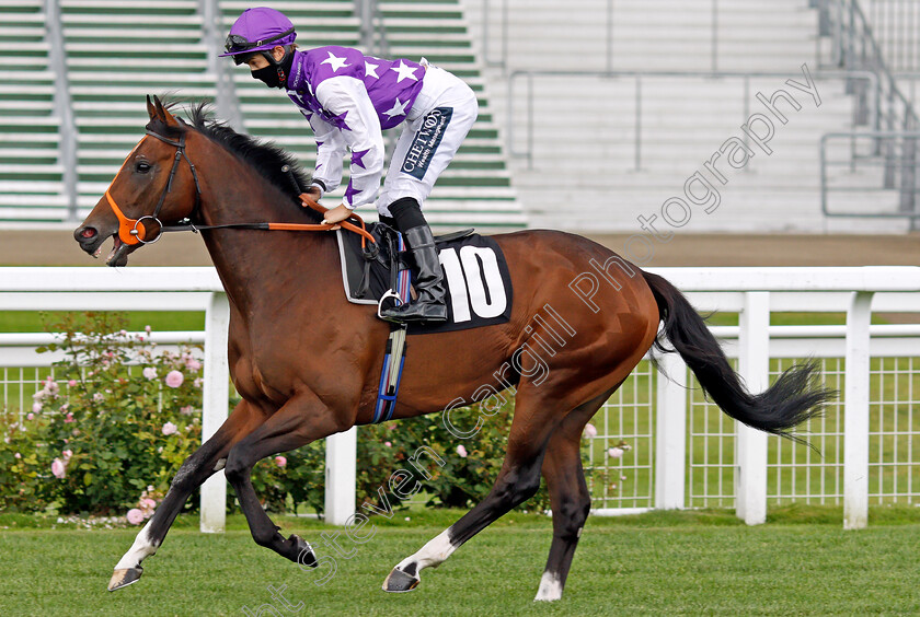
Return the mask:
[[418, 266], [413, 286], [417, 298], [412, 303], [384, 308], [380, 315], [390, 322], [446, 322], [444, 275], [430, 228], [425, 224], [405, 230], [403, 237]]

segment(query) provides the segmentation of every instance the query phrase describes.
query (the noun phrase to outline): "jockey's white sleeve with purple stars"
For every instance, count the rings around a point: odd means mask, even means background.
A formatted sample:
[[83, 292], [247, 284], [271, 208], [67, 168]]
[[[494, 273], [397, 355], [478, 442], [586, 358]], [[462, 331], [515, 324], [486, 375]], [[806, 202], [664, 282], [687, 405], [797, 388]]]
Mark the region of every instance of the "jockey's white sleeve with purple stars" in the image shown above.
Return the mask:
[[317, 101], [352, 150], [345, 206], [354, 209], [373, 201], [383, 173], [383, 133], [364, 82], [349, 75], [330, 78], [317, 86]]

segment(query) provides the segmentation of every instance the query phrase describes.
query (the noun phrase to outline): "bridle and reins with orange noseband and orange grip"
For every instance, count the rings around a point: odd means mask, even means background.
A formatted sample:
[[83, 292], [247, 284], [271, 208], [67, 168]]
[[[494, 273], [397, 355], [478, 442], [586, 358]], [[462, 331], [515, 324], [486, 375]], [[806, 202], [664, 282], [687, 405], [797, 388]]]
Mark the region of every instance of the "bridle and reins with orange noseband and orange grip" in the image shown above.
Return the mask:
[[[367, 247], [367, 242], [370, 241], [371, 243], [376, 244], [377, 241], [373, 236], [368, 233], [367, 225], [358, 214], [352, 213], [348, 219], [354, 219], [356, 222], [349, 222], [349, 220], [344, 220], [338, 223], [225, 223], [220, 225], [196, 225], [192, 222], [192, 218], [198, 212], [198, 209], [202, 205], [202, 186], [198, 183], [198, 173], [195, 170], [195, 165], [188, 159], [188, 155], [185, 153], [185, 133], [182, 133], [182, 137], [179, 141], [169, 139], [153, 132], [151, 130], [147, 131], [147, 135], [151, 137], [156, 137], [160, 141], [168, 143], [170, 145], [175, 147], [175, 158], [173, 160], [172, 168], [170, 170], [170, 177], [166, 181], [166, 186], [163, 189], [163, 193], [160, 195], [160, 200], [157, 203], [157, 208], [153, 210], [152, 214], [145, 214], [139, 219], [129, 219], [125, 216], [118, 205], [115, 202], [115, 199], [112, 197], [110, 193], [112, 187], [110, 186], [105, 190], [105, 198], [108, 200], [108, 205], [112, 207], [112, 211], [115, 212], [115, 217], [118, 219], [118, 237], [125, 244], [153, 244], [166, 232], [180, 232], [180, 231], [191, 231], [193, 233], [197, 233], [198, 231], [204, 230], [260, 230], [260, 231], [329, 231], [336, 225], [341, 225], [342, 229], [350, 231], [361, 236], [361, 248]], [[141, 142], [143, 139], [141, 139]], [[138, 142], [140, 145], [140, 142]], [[137, 145], [135, 147], [137, 150]], [[134, 150], [131, 150], [134, 153]], [[125, 167], [128, 160], [131, 156], [131, 153], [128, 154], [128, 158], [125, 159], [125, 162], [122, 164], [122, 168]], [[180, 221], [181, 224], [179, 225], [163, 225], [160, 221], [160, 210], [163, 208], [163, 203], [166, 200], [166, 196], [172, 190], [173, 178], [175, 177], [175, 172], [179, 168], [179, 163], [182, 159], [188, 163], [188, 167], [192, 170], [192, 177], [195, 179], [195, 207], [189, 212], [188, 217]], [[118, 170], [118, 174], [122, 173], [122, 170]], [[117, 177], [118, 174], [115, 176]], [[114, 181], [113, 181], [114, 182]], [[313, 201], [306, 193], [299, 195], [299, 198], [302, 203], [309, 207], [312, 210], [315, 210], [320, 214], [326, 211], [325, 208]], [[149, 219], [150, 221], [156, 221], [156, 223], [160, 228], [160, 232], [152, 238], [152, 240], [145, 240], [143, 236], [147, 234], [147, 230], [143, 225], [145, 220]]]

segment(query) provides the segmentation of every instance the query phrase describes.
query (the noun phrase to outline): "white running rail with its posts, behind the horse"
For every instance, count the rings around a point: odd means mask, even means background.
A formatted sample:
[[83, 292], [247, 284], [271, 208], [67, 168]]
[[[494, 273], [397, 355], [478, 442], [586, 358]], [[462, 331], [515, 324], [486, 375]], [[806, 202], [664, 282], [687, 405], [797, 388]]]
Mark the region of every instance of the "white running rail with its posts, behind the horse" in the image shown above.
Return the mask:
[[[841, 392], [844, 526], [865, 526], [871, 464], [870, 357], [920, 357], [920, 325], [870, 327], [871, 312], [920, 313], [920, 267], [649, 270], [687, 292], [701, 311], [739, 314], [738, 326], [715, 327], [713, 330], [725, 340], [728, 356], [738, 359], [739, 372], [754, 391], [762, 389], [769, 383], [770, 359], [846, 358], [846, 380]], [[205, 311], [203, 439], [210, 436], [227, 416], [229, 396], [226, 357], [229, 305], [215, 270], [0, 269], [0, 310], [100, 308]], [[840, 312], [847, 314], [847, 323], [840, 326], [770, 326], [773, 312]], [[20, 349], [32, 345], [30, 336], [37, 335], [16, 335]], [[172, 335], [172, 338], [175, 339], [175, 336]], [[3, 365], [24, 362], [31, 353], [12, 353], [16, 337], [0, 340]], [[163, 342], [169, 341], [163, 339]], [[646, 472], [652, 474], [648, 486], [654, 487], [654, 497], [649, 494], [647, 508], [602, 507], [597, 510], [600, 514], [685, 508], [688, 504], [686, 458], [690, 406], [685, 387], [688, 383], [687, 369], [674, 354], [664, 357], [663, 364], [671, 379], [658, 379], [654, 388], [656, 404], [652, 404], [651, 396], [644, 404], [648, 414], [654, 415], [652, 421], [655, 423], [654, 429], [649, 429], [643, 438], [648, 442], [649, 458], [645, 467], [652, 468]], [[913, 404], [912, 400], [910, 403]], [[913, 430], [911, 424], [908, 428], [911, 440]], [[920, 443], [920, 426], [916, 431], [916, 442]], [[355, 429], [327, 440], [326, 520], [336, 524], [344, 523], [354, 512], [355, 444]], [[768, 469], [778, 466], [767, 461], [768, 436], [746, 427], [736, 427], [735, 449], [736, 510], [747, 523], [762, 523], [768, 502]], [[920, 469], [920, 459], [913, 458], [912, 451], [911, 445], [906, 454], [907, 462], [898, 464]], [[652, 452], [654, 456], [651, 456]], [[916, 488], [908, 488], [908, 498], [920, 494], [917, 492], [920, 491], [920, 481], [915, 484]], [[202, 490], [203, 531], [223, 528], [225, 499], [226, 482], [220, 473]]]

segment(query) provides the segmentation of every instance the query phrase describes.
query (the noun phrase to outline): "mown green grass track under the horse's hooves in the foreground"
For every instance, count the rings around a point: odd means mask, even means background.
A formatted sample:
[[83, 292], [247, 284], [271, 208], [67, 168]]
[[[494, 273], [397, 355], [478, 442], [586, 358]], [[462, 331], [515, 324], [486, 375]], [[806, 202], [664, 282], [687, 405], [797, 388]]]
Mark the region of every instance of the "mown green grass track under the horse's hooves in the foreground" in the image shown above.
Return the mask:
[[[920, 516], [872, 521], [844, 532], [839, 511], [809, 509], [746, 527], [724, 511], [593, 517], [582, 536], [565, 596], [532, 602], [551, 537], [549, 520], [511, 514], [423, 573], [411, 594], [380, 583], [460, 512], [396, 513], [366, 544], [336, 558], [318, 586], [314, 571], [256, 546], [239, 516], [230, 531], [202, 535], [181, 520], [135, 585], [107, 593], [112, 567], [134, 531], [0, 533], [0, 608], [14, 615], [241, 615], [272, 602], [268, 585], [315, 615], [909, 615], [920, 612]], [[815, 519], [816, 517], [816, 519]], [[827, 524], [825, 524], [827, 521]], [[8, 524], [4, 519], [0, 523]], [[276, 521], [323, 546], [315, 521]], [[192, 528], [189, 528], [192, 527]], [[326, 573], [326, 572], [323, 572]], [[271, 614], [265, 612], [263, 615]], [[287, 613], [283, 613], [287, 614]]]

